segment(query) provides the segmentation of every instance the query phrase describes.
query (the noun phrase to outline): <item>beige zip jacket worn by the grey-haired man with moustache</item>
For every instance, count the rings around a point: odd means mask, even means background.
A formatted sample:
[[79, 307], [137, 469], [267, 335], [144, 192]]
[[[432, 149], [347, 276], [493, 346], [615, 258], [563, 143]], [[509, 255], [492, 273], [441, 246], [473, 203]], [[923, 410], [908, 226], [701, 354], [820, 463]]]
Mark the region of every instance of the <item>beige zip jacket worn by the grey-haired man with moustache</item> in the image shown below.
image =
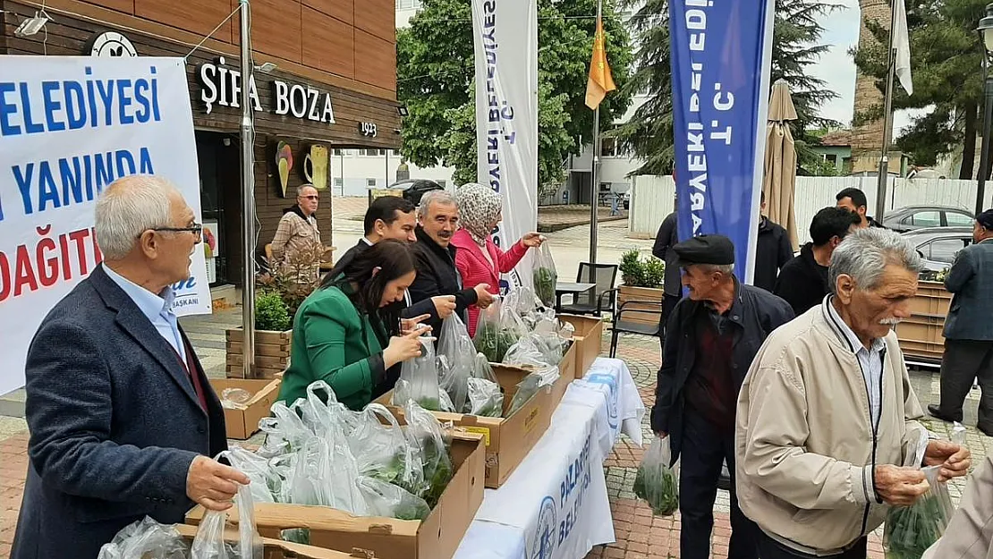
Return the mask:
[[926, 431], [897, 335], [884, 339], [877, 429], [856, 349], [829, 299], [780, 327], [738, 397], [738, 502], [771, 537], [813, 555], [841, 553], [883, 523], [874, 466], [919, 456]]

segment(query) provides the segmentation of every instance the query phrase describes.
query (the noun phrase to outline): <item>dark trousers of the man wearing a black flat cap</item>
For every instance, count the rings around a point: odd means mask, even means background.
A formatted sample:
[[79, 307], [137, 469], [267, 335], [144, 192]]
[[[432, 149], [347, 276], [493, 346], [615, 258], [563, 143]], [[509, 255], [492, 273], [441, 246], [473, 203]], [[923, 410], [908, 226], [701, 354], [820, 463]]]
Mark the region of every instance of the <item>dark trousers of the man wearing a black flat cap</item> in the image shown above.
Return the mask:
[[[755, 535], [759, 530], [738, 507], [735, 494], [735, 438], [720, 432], [705, 417], [687, 408], [683, 416], [679, 470], [679, 554], [682, 559], [708, 559], [714, 527], [714, 500], [724, 461], [731, 474], [731, 544], [728, 559], [758, 559]], [[763, 559], [767, 559], [763, 557]]]

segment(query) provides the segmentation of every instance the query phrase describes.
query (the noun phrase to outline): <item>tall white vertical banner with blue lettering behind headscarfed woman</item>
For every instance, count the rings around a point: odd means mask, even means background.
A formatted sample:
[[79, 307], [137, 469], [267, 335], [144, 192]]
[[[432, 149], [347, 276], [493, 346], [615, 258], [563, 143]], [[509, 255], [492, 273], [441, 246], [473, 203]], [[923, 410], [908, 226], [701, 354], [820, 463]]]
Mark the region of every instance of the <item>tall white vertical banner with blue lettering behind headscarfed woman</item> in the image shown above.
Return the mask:
[[[503, 250], [538, 224], [537, 9], [535, 0], [473, 0], [477, 180], [503, 200], [494, 231]], [[530, 272], [515, 276], [531, 285]]]

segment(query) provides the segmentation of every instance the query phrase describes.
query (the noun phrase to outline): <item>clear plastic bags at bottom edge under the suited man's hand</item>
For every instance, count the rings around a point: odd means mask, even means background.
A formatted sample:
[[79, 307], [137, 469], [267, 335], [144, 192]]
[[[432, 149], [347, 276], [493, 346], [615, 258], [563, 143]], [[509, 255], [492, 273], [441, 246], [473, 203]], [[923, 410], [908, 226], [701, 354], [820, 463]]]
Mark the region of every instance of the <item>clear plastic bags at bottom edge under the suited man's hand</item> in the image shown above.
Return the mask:
[[125, 526], [110, 543], [104, 544], [97, 559], [262, 559], [262, 538], [255, 529], [252, 491], [248, 486], [238, 489], [234, 504], [238, 510], [236, 540], [224, 538], [226, 512], [208, 512], [192, 545], [175, 527], [146, 516]]

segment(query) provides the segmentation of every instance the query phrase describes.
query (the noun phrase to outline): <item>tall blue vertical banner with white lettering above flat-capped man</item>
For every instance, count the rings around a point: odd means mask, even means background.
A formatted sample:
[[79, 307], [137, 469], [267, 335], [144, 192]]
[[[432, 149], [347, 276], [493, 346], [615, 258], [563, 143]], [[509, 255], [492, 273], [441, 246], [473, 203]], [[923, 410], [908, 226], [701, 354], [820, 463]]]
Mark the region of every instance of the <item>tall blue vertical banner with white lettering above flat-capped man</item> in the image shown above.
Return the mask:
[[775, 0], [669, 0], [679, 238], [719, 233], [752, 283]]

